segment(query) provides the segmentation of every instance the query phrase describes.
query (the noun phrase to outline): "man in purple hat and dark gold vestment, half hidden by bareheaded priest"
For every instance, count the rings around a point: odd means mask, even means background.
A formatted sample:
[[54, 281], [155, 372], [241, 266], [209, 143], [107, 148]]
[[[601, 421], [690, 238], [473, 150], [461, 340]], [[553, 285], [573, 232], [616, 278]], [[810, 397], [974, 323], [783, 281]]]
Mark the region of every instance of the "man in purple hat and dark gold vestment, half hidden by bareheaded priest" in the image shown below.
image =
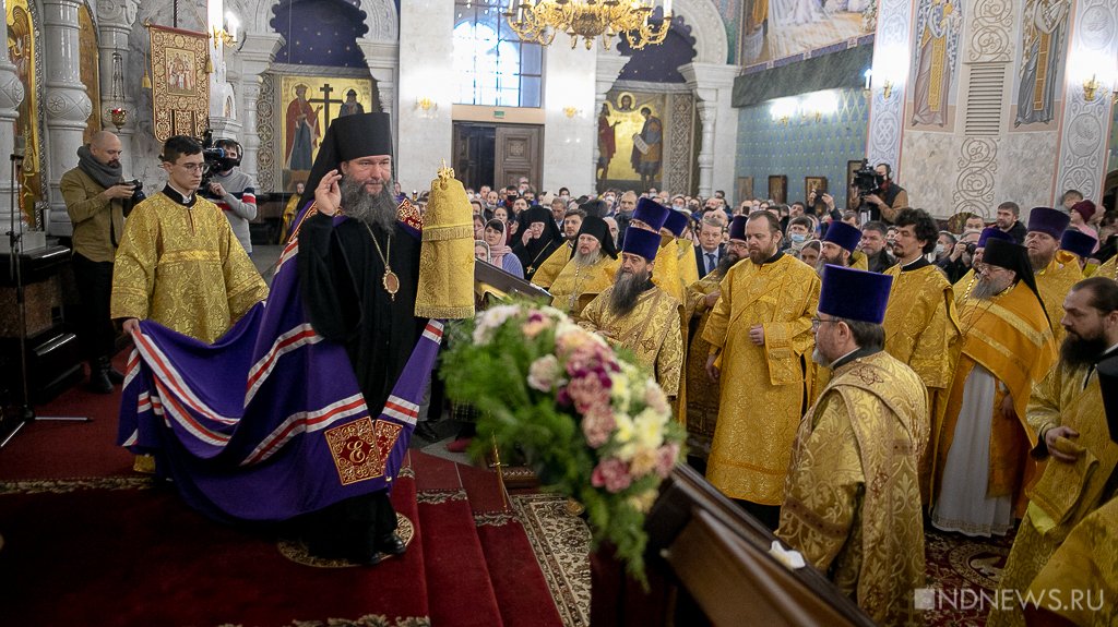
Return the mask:
[[[704, 222], [704, 226], [709, 223]], [[717, 226], [717, 224], [716, 224]], [[707, 374], [710, 343], [702, 338], [707, 320], [721, 293], [722, 279], [730, 268], [746, 255], [746, 216], [739, 215], [730, 223], [730, 241], [718, 266], [705, 277], [688, 286], [683, 319], [688, 321], [686, 337], [686, 427], [688, 455], [704, 464], [710, 456], [714, 426], [718, 424], [718, 382]], [[692, 463], [695, 463], [694, 461]]]

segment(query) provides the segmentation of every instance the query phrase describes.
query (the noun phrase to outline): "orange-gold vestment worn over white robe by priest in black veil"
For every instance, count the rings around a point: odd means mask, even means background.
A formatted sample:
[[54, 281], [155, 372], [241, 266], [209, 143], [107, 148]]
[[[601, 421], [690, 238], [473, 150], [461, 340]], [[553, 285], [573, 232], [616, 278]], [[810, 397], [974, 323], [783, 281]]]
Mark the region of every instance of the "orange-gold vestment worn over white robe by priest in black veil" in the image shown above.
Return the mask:
[[[1034, 382], [1055, 363], [1057, 348], [1041, 303], [1024, 281], [989, 300], [965, 298], [959, 303], [963, 330], [961, 355], [955, 367], [942, 422], [932, 425], [932, 496], [938, 495], [947, 453], [963, 408], [967, 377], [976, 365], [997, 379], [989, 440], [988, 496], [1012, 495], [1017, 508], [1024, 505], [1022, 488], [1036, 474], [1029, 448], [1036, 442], [1035, 432], [1025, 423], [1025, 406]], [[1002, 416], [1002, 402], [1013, 398], [1016, 421]], [[929, 508], [931, 503], [928, 503]]]

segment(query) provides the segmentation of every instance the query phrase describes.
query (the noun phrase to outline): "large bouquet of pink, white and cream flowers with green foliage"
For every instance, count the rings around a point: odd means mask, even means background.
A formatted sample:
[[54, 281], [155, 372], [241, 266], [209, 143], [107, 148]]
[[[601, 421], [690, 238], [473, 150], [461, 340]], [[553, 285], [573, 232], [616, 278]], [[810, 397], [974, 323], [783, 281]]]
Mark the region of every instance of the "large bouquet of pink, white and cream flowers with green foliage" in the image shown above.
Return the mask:
[[447, 395], [477, 407], [479, 433], [518, 447], [548, 490], [586, 507], [595, 546], [612, 542], [645, 581], [644, 514], [685, 435], [655, 379], [562, 311], [530, 302], [463, 321], [448, 346]]

